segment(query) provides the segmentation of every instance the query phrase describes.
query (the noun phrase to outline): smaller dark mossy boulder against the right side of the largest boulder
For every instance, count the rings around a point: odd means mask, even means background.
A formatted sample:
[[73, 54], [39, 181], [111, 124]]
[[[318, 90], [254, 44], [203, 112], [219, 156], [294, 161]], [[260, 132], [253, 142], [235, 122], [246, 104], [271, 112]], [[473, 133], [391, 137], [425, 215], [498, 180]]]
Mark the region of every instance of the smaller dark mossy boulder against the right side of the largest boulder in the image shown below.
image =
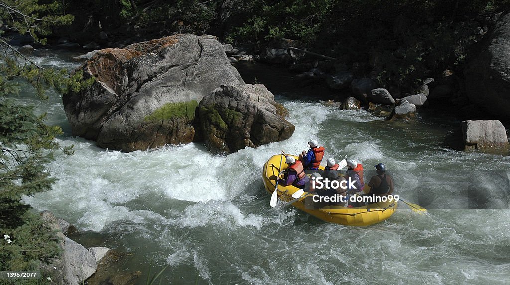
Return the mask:
[[213, 153], [282, 141], [295, 129], [284, 117], [285, 107], [261, 84], [221, 86], [203, 97], [198, 108], [202, 137]]

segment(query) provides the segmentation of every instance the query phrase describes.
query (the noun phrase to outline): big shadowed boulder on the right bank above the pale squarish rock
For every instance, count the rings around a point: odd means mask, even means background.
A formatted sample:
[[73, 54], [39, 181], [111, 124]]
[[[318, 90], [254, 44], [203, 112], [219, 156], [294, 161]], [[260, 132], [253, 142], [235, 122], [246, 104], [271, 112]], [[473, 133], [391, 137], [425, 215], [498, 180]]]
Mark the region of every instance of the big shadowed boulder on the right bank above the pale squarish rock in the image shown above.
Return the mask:
[[501, 15], [486, 34], [481, 53], [464, 74], [467, 95], [480, 111], [510, 118], [510, 13]]

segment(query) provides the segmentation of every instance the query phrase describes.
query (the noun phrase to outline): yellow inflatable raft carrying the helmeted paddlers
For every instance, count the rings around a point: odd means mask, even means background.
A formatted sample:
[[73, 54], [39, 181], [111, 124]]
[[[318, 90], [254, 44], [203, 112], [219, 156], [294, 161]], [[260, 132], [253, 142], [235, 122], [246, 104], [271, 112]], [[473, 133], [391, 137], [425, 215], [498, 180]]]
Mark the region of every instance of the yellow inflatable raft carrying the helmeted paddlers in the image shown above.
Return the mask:
[[[287, 156], [289, 154], [286, 154]], [[280, 159], [282, 159], [282, 155], [273, 156], [269, 159], [269, 161], [264, 165], [264, 169], [262, 170], [262, 178], [264, 180], [264, 186], [266, 187], [267, 192], [270, 194], [273, 193], [274, 187], [276, 184], [276, 179], [278, 174], [281, 171], [287, 169], [287, 164], [285, 163], [285, 157], [283, 157], [282, 169], [278, 169], [280, 165]], [[297, 160], [298, 157], [294, 156]], [[323, 166], [320, 167], [321, 170], [324, 169]], [[367, 183], [368, 184], [368, 183]], [[278, 199], [289, 202], [294, 200], [292, 198], [292, 194], [296, 192], [297, 189], [294, 186], [283, 186], [278, 185]], [[364, 192], [367, 193], [369, 188], [365, 186]], [[307, 192], [305, 192], [307, 194]], [[310, 215], [313, 215], [321, 220], [326, 222], [333, 222], [342, 225], [349, 226], [368, 226], [371, 224], [375, 224], [381, 221], [384, 221], [391, 217], [395, 210], [397, 209], [396, 201], [388, 201], [388, 202], [378, 202], [370, 205], [365, 205], [358, 208], [345, 208], [341, 206], [325, 206], [321, 209], [307, 209], [305, 207], [305, 199], [310, 201], [312, 195], [303, 195], [299, 200], [292, 203], [297, 209], [307, 212]], [[308, 207], [312, 208], [312, 207]], [[334, 209], [333, 209], [334, 208]]]

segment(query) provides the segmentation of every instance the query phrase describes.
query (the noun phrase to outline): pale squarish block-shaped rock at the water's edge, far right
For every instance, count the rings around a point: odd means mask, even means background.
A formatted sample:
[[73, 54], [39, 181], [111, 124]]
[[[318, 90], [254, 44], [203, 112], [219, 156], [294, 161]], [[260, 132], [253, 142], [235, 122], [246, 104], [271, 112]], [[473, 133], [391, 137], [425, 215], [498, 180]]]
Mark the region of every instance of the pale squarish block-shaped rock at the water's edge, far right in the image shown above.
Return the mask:
[[462, 133], [466, 150], [508, 145], [505, 127], [499, 120], [462, 121]]

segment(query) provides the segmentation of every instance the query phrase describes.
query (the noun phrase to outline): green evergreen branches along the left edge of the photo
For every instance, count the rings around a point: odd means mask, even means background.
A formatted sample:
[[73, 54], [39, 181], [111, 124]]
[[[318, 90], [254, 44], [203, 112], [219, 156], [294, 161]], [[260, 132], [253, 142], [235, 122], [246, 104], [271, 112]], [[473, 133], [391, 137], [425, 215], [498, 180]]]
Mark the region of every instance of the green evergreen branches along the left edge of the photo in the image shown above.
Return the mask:
[[[0, 20], [10, 31], [30, 35], [39, 44], [56, 25], [69, 24], [70, 15], [60, 15], [60, 2], [18, 0], [0, 1]], [[15, 47], [4, 30], [0, 30], [0, 270], [38, 270], [60, 255], [58, 240], [40, 216], [21, 199], [25, 195], [51, 189], [55, 179], [46, 170], [56, 151], [72, 153], [61, 147], [55, 137], [60, 126], [44, 123], [46, 114], [36, 115], [34, 106], [16, 100], [19, 82], [26, 81], [40, 99], [45, 91], [75, 92], [90, 84], [81, 73], [44, 68]], [[49, 276], [48, 276], [49, 277]], [[49, 279], [23, 279], [19, 282], [51, 283]]]

